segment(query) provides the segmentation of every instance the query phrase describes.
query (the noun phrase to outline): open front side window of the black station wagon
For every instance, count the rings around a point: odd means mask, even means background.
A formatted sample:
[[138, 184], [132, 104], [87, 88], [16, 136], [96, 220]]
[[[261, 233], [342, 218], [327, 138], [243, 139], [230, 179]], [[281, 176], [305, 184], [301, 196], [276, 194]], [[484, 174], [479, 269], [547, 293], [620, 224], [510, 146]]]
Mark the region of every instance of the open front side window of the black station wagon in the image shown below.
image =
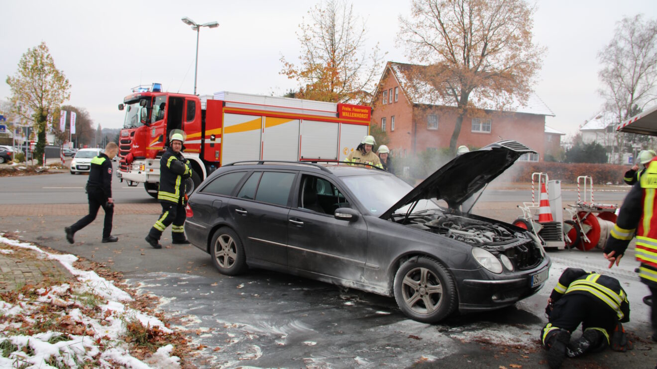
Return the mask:
[[314, 175], [302, 177], [298, 195], [298, 207], [317, 213], [332, 214], [338, 207], [350, 207], [335, 185]]

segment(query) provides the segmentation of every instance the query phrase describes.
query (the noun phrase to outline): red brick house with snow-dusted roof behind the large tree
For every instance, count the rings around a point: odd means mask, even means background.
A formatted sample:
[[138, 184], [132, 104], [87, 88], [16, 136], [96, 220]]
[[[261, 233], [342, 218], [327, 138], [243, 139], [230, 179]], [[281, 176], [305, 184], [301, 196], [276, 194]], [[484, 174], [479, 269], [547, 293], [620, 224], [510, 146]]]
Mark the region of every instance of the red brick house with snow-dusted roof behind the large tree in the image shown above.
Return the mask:
[[[388, 62], [374, 93], [371, 124], [386, 132], [394, 156], [412, 156], [427, 148], [449, 147], [457, 110], [455, 104], [450, 106], [437, 102], [440, 98], [431, 98], [436, 96], [436, 90], [420, 77], [425, 68]], [[543, 160], [545, 116], [555, 114], [541, 98], [532, 93], [524, 106], [515, 104], [509, 106], [509, 111], [489, 113], [483, 119], [464, 117], [457, 146], [480, 148], [512, 139], [539, 153], [521, 160]]]

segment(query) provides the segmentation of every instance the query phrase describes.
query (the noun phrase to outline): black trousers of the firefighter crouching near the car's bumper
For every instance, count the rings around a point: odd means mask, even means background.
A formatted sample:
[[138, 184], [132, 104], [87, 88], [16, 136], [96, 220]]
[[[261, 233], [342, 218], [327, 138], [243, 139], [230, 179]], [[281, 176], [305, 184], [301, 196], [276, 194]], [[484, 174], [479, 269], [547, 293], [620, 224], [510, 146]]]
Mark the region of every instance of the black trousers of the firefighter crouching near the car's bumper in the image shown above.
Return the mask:
[[581, 324], [583, 331], [599, 330], [609, 343], [609, 336], [614, 332], [618, 316], [606, 303], [597, 297], [581, 293], [566, 293], [555, 303], [550, 313], [549, 323], [541, 330], [541, 341], [546, 345], [545, 338], [551, 330], [563, 329], [573, 333]]

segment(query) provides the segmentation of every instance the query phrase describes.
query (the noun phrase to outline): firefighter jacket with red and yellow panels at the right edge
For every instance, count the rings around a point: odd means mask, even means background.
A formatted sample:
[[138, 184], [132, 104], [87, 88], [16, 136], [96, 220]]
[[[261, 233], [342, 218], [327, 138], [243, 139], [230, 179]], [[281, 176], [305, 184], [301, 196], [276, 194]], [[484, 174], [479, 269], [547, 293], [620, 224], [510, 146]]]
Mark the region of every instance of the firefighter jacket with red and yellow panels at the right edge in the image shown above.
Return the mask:
[[635, 255], [641, 262], [641, 282], [657, 288], [657, 158], [653, 159], [641, 179], [625, 196], [616, 224], [610, 232], [604, 253], [622, 255], [637, 236]]

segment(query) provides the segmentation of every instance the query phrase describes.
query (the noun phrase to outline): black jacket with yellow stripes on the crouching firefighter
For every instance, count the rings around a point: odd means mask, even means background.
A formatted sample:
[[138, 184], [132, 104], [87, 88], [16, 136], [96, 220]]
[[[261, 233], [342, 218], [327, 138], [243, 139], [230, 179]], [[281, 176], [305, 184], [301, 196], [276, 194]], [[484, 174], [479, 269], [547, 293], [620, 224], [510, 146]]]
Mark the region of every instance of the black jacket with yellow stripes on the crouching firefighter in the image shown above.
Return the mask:
[[566, 268], [559, 277], [559, 282], [552, 290], [550, 298], [556, 303], [564, 295], [580, 294], [596, 297], [600, 306], [612, 309], [618, 320], [629, 322], [629, 301], [627, 293], [616, 278], [586, 272], [582, 269]]

